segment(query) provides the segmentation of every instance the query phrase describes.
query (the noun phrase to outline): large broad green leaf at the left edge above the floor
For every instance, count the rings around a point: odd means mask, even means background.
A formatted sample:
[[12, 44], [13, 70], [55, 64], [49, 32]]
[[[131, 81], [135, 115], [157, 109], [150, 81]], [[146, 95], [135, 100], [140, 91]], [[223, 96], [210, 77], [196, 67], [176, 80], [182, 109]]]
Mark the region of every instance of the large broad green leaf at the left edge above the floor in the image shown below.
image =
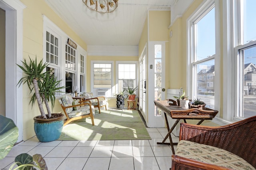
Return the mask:
[[10, 152], [18, 135], [18, 127], [12, 119], [0, 115], [0, 160]]

